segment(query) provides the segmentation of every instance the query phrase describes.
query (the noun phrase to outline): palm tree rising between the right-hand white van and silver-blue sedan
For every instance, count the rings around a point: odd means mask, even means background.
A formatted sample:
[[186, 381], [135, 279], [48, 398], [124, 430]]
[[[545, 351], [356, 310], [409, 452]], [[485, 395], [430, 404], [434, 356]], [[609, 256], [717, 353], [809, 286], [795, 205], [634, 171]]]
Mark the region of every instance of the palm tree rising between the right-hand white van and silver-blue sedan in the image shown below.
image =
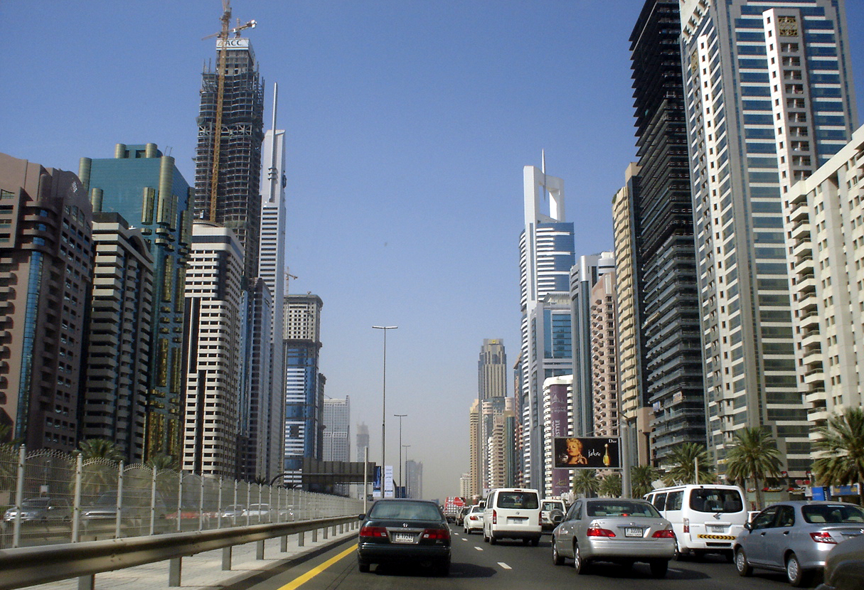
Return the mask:
[[761, 481], [780, 474], [780, 452], [777, 441], [765, 428], [741, 428], [735, 433], [734, 447], [726, 455], [726, 475], [729, 479], [753, 480], [756, 504], [762, 507]]

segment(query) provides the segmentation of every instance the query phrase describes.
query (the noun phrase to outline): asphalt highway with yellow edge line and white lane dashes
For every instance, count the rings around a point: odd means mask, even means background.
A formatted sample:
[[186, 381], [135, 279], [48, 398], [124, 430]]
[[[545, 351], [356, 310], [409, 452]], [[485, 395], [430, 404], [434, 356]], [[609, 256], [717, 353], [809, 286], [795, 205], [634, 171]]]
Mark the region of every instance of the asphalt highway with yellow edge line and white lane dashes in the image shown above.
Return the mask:
[[340, 542], [307, 561], [283, 571], [272, 571], [256, 580], [245, 580], [243, 588], [229, 590], [785, 590], [782, 574], [754, 574], [740, 578], [731, 563], [717, 556], [704, 561], [672, 561], [664, 579], [651, 577], [646, 564], [632, 568], [595, 564], [589, 574], [577, 575], [570, 561], [552, 565], [550, 536], [539, 547], [521, 542], [483, 542], [482, 536], [467, 536], [461, 527], [453, 530], [453, 563], [448, 577], [438, 577], [416, 568], [376, 568], [361, 574], [351, 539]]

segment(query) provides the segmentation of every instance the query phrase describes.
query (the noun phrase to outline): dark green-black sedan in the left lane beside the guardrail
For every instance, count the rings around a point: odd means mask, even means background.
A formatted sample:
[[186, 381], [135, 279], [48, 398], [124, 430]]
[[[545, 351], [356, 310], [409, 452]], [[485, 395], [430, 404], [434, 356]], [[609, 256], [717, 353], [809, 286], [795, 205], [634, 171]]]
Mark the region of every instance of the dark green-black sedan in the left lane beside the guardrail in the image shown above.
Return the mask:
[[450, 529], [434, 502], [413, 499], [380, 499], [366, 514], [357, 543], [357, 568], [368, 572], [372, 563], [416, 563], [450, 571]]

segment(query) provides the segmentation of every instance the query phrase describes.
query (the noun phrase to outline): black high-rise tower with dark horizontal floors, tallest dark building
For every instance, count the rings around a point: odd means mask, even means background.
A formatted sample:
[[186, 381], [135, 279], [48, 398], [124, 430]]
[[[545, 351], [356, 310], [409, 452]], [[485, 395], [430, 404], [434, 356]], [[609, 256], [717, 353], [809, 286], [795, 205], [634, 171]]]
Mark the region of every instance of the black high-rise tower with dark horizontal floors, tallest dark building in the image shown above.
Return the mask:
[[680, 31], [678, 0], [646, 0], [630, 35], [639, 161], [627, 182], [655, 465], [682, 442], [707, 441]]

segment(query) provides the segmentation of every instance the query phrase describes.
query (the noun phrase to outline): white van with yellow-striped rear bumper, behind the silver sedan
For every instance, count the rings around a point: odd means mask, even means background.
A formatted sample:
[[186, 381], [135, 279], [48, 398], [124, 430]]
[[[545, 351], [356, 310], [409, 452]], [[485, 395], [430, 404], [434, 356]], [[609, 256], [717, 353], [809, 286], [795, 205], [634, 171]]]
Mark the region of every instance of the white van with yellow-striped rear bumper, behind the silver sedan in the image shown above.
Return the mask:
[[672, 523], [678, 555], [721, 553], [732, 561], [732, 543], [747, 522], [740, 487], [674, 485], [649, 492], [645, 499]]

